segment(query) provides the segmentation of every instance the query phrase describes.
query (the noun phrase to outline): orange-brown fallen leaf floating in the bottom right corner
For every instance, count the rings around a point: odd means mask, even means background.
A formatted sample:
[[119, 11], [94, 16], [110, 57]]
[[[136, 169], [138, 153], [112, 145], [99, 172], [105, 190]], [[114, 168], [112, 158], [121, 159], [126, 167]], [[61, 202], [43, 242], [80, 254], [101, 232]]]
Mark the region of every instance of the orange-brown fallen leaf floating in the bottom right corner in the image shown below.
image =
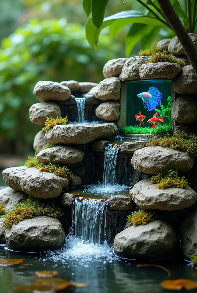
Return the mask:
[[177, 280], [164, 280], [160, 284], [162, 288], [168, 290], [192, 290], [197, 288], [197, 282], [188, 279], [177, 279]]

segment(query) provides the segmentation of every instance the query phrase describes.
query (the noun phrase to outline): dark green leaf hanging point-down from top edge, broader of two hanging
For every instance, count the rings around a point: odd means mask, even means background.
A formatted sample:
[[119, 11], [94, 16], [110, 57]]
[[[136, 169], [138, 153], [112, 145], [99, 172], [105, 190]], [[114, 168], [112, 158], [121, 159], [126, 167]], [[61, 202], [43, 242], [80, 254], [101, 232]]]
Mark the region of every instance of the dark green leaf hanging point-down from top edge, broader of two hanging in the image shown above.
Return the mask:
[[98, 29], [103, 23], [108, 1], [109, 0], [92, 0], [92, 21]]

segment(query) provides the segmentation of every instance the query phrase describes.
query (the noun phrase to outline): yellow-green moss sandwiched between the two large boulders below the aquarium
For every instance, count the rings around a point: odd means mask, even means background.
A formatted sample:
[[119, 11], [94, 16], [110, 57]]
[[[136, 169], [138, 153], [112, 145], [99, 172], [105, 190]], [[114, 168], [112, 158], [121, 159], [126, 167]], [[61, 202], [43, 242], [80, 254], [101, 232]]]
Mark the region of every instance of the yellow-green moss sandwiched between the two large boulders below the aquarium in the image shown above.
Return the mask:
[[151, 177], [150, 183], [157, 184], [159, 189], [169, 188], [169, 187], [187, 187], [188, 181], [184, 176], [179, 177], [176, 171], [166, 170], [162, 172], [157, 172]]

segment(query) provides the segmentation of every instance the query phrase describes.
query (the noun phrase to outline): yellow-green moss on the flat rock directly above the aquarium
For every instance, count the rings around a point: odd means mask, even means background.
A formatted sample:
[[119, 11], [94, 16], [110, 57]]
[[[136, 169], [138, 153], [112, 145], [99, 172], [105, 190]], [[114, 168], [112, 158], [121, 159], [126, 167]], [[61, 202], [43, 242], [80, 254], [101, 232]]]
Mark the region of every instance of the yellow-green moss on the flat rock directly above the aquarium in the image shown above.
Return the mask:
[[181, 67], [185, 66], [186, 63], [184, 61], [178, 61], [176, 57], [174, 57], [171, 54], [168, 54], [168, 51], [157, 51], [152, 52], [151, 58], [149, 59], [148, 63], [157, 63], [157, 62], [171, 62], [171, 63], [177, 63]]

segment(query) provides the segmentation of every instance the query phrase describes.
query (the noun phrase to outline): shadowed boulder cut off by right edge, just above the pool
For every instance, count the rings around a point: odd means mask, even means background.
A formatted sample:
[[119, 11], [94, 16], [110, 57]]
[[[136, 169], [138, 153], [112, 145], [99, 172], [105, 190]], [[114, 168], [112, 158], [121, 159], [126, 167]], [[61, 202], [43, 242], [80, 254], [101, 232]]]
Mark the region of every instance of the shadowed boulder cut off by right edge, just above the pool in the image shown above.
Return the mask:
[[197, 255], [197, 211], [190, 212], [180, 226], [182, 253], [184, 258], [191, 260]]

